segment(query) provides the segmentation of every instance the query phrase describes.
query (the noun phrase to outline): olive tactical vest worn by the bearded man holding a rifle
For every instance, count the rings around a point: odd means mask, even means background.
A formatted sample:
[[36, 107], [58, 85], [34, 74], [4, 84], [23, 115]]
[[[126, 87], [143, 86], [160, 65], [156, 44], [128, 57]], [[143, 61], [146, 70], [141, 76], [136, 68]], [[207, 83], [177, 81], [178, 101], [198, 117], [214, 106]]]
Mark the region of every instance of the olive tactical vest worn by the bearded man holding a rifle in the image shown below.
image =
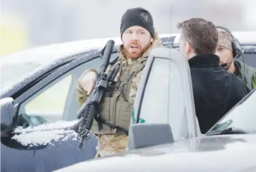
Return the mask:
[[[122, 127], [125, 130], [129, 129], [131, 122], [131, 114], [134, 102], [129, 102], [129, 91], [132, 79], [140, 72], [145, 66], [144, 61], [128, 65], [127, 67], [121, 65], [121, 73], [115, 87], [109, 91], [111, 97], [103, 97], [101, 101], [100, 113], [102, 120], [111, 123], [112, 125]], [[113, 67], [121, 63], [118, 60]], [[101, 131], [96, 120], [93, 121], [92, 129], [93, 134], [125, 134], [124, 131], [116, 128], [111, 128], [108, 125], [102, 124]]]

